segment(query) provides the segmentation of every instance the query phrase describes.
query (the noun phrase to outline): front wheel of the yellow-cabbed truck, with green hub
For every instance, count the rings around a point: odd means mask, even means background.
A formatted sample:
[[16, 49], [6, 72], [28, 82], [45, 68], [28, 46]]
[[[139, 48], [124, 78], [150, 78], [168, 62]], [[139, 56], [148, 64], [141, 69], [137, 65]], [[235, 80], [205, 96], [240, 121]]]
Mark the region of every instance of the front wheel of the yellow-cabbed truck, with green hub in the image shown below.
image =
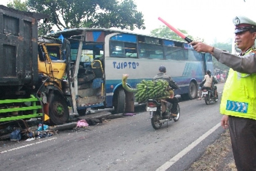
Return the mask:
[[63, 97], [51, 93], [49, 95], [49, 117], [51, 123], [60, 125], [68, 122], [68, 105]]

